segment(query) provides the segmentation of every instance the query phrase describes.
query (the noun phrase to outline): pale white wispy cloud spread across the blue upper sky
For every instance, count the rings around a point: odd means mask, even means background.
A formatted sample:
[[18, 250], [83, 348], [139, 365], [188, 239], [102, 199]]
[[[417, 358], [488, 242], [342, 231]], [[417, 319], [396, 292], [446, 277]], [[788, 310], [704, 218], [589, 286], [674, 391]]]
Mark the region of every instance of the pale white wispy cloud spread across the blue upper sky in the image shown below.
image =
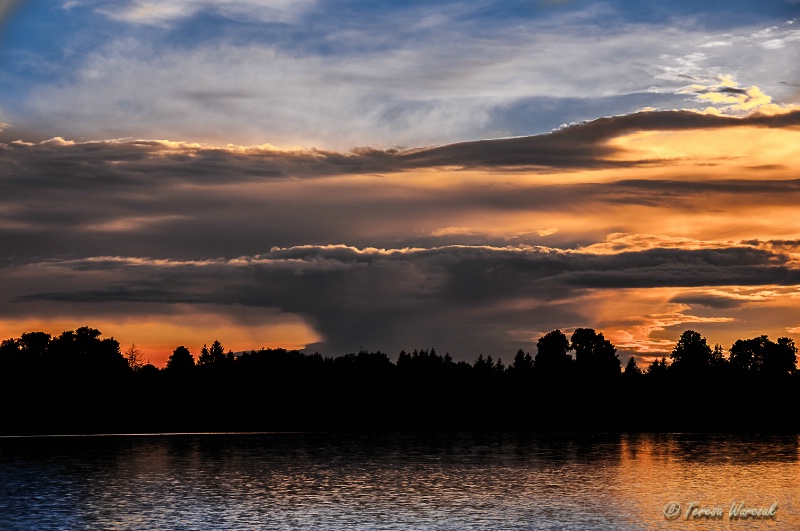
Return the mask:
[[[71, 51], [56, 79], [27, 87], [8, 121], [64, 138], [422, 146], [539, 133], [642, 107], [713, 107], [687, 100], [689, 78], [711, 86], [738, 73], [742, 86], [782, 102], [792, 92], [781, 81], [796, 77], [786, 66], [796, 44], [789, 26], [769, 34], [784, 49], [753, 46], [763, 28], [737, 27], [725, 37], [731, 45], [712, 53], [701, 48], [709, 37], [701, 28], [631, 22], [608, 8], [520, 21], [487, 20], [468, 4], [351, 18], [328, 4], [285, 4], [87, 4], [119, 27]], [[219, 15], [217, 29], [192, 19], [200, 12]], [[291, 30], [264, 23], [284, 16]]]

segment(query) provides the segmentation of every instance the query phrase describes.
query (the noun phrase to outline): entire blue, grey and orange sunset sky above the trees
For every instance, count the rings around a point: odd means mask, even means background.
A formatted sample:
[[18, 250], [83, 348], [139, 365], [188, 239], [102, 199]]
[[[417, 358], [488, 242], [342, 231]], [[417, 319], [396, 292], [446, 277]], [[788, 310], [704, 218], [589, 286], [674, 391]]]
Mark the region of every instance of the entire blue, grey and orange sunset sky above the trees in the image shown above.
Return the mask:
[[0, 337], [800, 340], [800, 2], [0, 1]]

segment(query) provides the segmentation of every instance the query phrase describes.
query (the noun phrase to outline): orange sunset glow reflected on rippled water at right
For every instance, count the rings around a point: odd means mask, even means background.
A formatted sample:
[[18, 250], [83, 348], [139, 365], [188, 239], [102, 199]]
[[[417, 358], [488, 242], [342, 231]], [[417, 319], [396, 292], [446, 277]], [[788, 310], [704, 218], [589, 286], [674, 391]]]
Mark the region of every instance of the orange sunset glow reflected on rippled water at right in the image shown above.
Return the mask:
[[[712, 405], [691, 412], [654, 406], [653, 414], [718, 416], [728, 412]], [[629, 503], [631, 518], [648, 522], [648, 529], [800, 529], [796, 435], [755, 439], [625, 435], [621, 443], [617, 480], [625, 488], [620, 494]], [[742, 508], [770, 508], [776, 503], [774, 518], [731, 517], [732, 507], [741, 514]], [[694, 509], [712, 516], [696, 516]], [[670, 518], [665, 511], [676, 516]]]

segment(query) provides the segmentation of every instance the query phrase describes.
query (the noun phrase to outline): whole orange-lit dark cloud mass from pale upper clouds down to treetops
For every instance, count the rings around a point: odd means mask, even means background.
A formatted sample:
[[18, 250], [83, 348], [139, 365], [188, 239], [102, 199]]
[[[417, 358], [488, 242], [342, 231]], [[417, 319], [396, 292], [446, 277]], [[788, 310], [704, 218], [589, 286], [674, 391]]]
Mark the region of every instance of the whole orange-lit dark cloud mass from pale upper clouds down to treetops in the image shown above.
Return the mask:
[[[82, 316], [144, 345], [138, 320], [156, 337], [152, 316], [217, 314], [231, 335], [236, 322], [247, 338], [286, 330], [286, 344], [326, 354], [435, 346], [472, 359], [530, 350], [556, 327], [597, 327], [644, 356], [681, 326], [728, 341], [764, 316], [794, 325], [794, 159], [735, 159], [744, 148], [724, 140], [743, 131], [750, 145], [796, 149], [799, 121], [642, 112], [528, 138], [344, 153], [8, 142], [0, 327]], [[671, 147], [722, 138], [728, 151], [717, 166], [696, 154], [680, 165], [614, 143], [654, 133]]]

